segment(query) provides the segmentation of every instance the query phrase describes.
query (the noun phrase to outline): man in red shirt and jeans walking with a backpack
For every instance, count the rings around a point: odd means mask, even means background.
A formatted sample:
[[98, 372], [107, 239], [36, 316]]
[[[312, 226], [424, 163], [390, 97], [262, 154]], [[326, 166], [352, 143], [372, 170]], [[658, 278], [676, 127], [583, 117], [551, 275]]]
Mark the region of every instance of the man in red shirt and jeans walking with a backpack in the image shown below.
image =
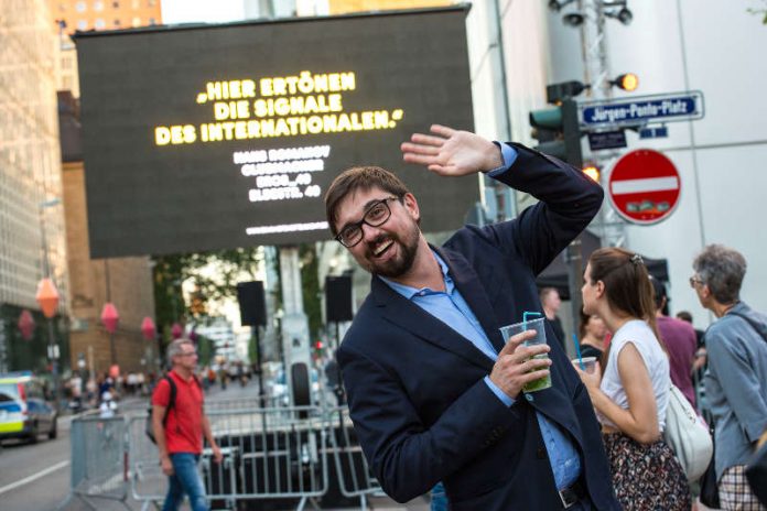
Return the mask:
[[[190, 339], [174, 340], [168, 347], [168, 359], [173, 368], [168, 373], [175, 383], [175, 401], [171, 404], [171, 384], [160, 380], [152, 395], [152, 425], [160, 450], [162, 471], [169, 477], [170, 487], [163, 511], [179, 509], [184, 493], [190, 497], [193, 511], [209, 509], [205, 487], [197, 471], [197, 460], [203, 452], [203, 436], [213, 448], [216, 463], [222, 461], [222, 450], [210, 433], [210, 423], [203, 411], [203, 391], [194, 376], [197, 350]], [[168, 410], [168, 417], [165, 411]]]

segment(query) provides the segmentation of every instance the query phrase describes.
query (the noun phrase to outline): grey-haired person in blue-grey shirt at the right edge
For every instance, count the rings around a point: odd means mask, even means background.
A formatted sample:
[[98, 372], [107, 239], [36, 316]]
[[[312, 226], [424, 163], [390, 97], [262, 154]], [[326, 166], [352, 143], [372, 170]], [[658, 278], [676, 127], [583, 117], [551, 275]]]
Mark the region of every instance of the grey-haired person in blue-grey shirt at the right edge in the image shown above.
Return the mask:
[[714, 459], [720, 504], [764, 511], [746, 478], [746, 465], [767, 430], [767, 316], [741, 302], [746, 260], [711, 244], [692, 263], [690, 285], [716, 320], [705, 333], [705, 395], [714, 416]]

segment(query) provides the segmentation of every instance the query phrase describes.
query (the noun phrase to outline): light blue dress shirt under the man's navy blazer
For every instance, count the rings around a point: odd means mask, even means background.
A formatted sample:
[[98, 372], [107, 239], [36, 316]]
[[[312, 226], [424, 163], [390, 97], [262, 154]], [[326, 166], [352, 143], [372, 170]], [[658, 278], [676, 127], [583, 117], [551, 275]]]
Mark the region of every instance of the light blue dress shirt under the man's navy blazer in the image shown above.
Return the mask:
[[[503, 172], [506, 172], [511, 163], [517, 157], [517, 151], [507, 144], [499, 144], [504, 155], [504, 166], [495, 168], [488, 173], [495, 177]], [[445, 283], [445, 291], [433, 291], [429, 287], [415, 289], [408, 285], [402, 285], [389, 279], [381, 278], [393, 291], [413, 302], [415, 305], [440, 319], [445, 325], [461, 334], [483, 354], [487, 355], [491, 360], [498, 358], [493, 344], [487, 338], [479, 320], [476, 318], [468, 304], [455, 287], [453, 279], [447, 273], [447, 264], [440, 258], [436, 252], [433, 252], [436, 261], [442, 269], [442, 276]], [[500, 390], [489, 376], [485, 377], [485, 383], [501, 400], [507, 406], [515, 403], [512, 398], [509, 398]], [[549, 461], [554, 475], [557, 488], [563, 489], [575, 482], [581, 474], [581, 459], [575, 446], [568, 438], [566, 434], [559, 428], [554, 423], [549, 421], [541, 413], [536, 412], [538, 424], [541, 428], [543, 443], [549, 453]]]

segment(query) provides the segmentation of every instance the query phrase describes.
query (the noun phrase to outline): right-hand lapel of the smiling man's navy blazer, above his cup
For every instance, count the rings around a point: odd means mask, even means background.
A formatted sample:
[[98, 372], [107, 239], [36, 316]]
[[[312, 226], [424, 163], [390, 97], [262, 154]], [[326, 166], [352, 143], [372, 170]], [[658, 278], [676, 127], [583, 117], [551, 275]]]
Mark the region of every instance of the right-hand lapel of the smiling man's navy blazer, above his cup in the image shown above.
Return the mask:
[[506, 343], [500, 335], [500, 325], [498, 325], [493, 304], [488, 298], [485, 285], [479, 280], [479, 275], [460, 253], [440, 247], [432, 248], [447, 263], [450, 275], [455, 281], [455, 286], [479, 320], [496, 352], [500, 351]]

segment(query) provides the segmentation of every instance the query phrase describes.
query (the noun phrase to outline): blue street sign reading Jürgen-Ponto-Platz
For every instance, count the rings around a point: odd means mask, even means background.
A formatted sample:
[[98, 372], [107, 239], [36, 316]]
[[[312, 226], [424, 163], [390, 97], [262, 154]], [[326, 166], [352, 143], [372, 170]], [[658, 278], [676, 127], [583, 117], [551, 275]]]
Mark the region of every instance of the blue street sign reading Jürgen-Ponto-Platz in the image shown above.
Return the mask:
[[703, 115], [703, 93], [699, 90], [636, 96], [579, 105], [579, 122], [585, 129], [605, 126], [640, 126], [661, 121], [689, 121], [701, 119]]

